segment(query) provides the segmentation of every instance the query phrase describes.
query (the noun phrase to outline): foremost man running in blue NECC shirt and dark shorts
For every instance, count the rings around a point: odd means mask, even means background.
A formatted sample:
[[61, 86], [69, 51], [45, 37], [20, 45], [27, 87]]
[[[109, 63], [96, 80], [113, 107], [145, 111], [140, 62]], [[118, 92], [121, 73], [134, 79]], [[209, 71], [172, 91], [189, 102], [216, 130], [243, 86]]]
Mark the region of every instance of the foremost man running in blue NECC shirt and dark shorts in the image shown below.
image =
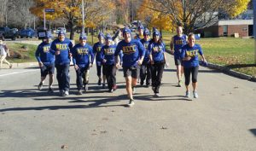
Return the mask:
[[128, 27], [124, 28], [123, 37], [125, 39], [119, 42], [114, 55], [116, 67], [119, 67], [118, 55], [123, 50], [122, 67], [126, 81], [126, 91], [130, 98], [128, 107], [132, 107], [135, 103], [132, 94], [135, 92], [140, 65], [142, 65], [145, 55], [145, 48], [140, 41], [131, 38], [131, 30]]

